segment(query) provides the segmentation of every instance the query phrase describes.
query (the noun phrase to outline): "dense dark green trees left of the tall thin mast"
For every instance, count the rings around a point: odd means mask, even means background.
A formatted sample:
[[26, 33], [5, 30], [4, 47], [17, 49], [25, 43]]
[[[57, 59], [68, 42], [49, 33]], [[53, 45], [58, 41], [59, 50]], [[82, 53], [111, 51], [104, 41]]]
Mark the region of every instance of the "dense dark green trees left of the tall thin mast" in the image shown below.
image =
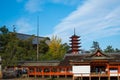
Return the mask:
[[15, 32], [3, 26], [0, 28], [0, 56], [3, 66], [14, 66], [21, 60], [36, 60], [36, 49], [32, 41], [34, 36], [27, 40], [17, 38]]

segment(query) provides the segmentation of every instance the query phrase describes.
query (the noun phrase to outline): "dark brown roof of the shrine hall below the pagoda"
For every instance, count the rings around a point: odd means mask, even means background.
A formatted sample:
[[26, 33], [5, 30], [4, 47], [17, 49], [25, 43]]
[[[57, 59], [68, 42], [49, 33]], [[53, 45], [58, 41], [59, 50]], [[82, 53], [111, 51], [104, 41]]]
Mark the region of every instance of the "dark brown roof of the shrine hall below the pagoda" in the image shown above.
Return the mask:
[[70, 66], [70, 61], [89, 63], [92, 60], [107, 60], [108, 62], [119, 62], [120, 63], [120, 53], [102, 53], [103, 56], [95, 56], [96, 53], [84, 53], [84, 54], [66, 54], [64, 59], [60, 62], [60, 66]]

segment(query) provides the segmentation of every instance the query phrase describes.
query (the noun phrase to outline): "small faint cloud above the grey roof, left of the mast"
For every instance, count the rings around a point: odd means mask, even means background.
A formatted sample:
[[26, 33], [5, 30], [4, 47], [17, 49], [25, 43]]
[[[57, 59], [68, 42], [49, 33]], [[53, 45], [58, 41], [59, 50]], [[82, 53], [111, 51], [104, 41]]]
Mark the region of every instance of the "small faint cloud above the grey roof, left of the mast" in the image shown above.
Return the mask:
[[33, 26], [29, 24], [29, 20], [26, 18], [20, 18], [16, 21], [16, 28], [18, 33], [30, 33], [34, 30]]

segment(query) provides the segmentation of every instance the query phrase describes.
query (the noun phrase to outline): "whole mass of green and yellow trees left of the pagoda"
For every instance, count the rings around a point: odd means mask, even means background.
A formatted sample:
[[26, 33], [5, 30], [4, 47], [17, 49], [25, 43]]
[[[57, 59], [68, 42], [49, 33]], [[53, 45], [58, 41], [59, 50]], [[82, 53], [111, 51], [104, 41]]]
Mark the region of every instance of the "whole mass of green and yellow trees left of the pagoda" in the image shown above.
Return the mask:
[[[3, 66], [15, 66], [19, 61], [35, 61], [37, 45], [33, 45], [35, 36], [21, 40], [17, 38], [16, 32], [10, 32], [6, 26], [0, 28], [0, 56]], [[53, 36], [50, 43], [45, 38], [39, 44], [39, 60], [61, 60], [69, 49], [61, 39]]]

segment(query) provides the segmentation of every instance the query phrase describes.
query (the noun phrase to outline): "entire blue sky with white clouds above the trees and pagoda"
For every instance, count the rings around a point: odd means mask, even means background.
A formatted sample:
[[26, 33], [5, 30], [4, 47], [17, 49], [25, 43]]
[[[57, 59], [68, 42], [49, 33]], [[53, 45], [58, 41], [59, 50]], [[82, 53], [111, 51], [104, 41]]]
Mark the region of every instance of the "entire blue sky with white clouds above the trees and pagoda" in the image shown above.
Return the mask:
[[75, 28], [82, 49], [93, 41], [120, 49], [120, 0], [0, 0], [0, 10], [0, 26], [11, 31], [15, 25], [19, 33], [36, 34], [39, 16], [40, 36], [69, 43]]

